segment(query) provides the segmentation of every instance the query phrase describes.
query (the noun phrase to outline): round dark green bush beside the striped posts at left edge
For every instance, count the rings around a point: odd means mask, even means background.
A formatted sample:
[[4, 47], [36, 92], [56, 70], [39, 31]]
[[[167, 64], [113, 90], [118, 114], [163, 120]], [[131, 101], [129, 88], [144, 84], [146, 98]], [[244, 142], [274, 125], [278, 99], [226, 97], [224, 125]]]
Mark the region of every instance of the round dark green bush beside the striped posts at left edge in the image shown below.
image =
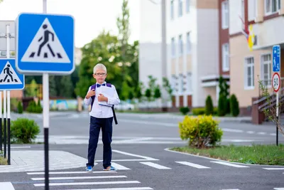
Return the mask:
[[40, 127], [34, 120], [18, 118], [11, 121], [11, 139], [14, 142], [31, 143], [40, 133]]

